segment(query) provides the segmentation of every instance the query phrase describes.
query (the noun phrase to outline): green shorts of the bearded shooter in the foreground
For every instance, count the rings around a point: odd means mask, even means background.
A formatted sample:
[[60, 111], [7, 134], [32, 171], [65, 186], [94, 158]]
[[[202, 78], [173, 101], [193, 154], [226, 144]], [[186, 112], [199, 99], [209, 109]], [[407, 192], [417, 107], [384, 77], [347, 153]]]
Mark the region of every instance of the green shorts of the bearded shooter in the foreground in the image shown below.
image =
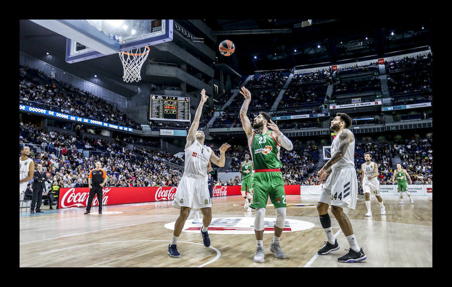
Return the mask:
[[255, 172], [251, 208], [266, 208], [268, 197], [275, 208], [286, 207], [284, 181], [280, 171]]

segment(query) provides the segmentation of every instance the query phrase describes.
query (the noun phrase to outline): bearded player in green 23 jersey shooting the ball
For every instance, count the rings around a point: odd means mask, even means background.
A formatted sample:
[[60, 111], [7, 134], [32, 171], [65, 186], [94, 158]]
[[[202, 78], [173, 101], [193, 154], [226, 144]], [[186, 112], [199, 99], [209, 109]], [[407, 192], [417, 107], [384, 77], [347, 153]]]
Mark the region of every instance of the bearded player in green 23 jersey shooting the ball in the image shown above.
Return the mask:
[[[265, 258], [262, 239], [264, 235], [264, 217], [269, 197], [276, 210], [275, 234], [270, 244], [270, 251], [275, 254], [275, 257], [284, 259], [286, 254], [281, 250], [280, 238], [286, 218], [286, 195], [280, 169], [282, 163], [279, 159], [279, 150], [281, 146], [286, 150], [292, 150], [293, 144], [282, 134], [266, 112], [259, 112], [259, 115], [254, 118], [252, 126], [247, 116], [251, 93], [245, 87], [242, 87], [240, 93], [245, 97], [240, 109], [240, 119], [247, 135], [254, 166], [253, 202], [250, 205], [251, 208], [256, 210], [254, 232], [256, 234], [257, 248], [254, 261], [264, 262]], [[272, 130], [269, 131], [268, 128]]]

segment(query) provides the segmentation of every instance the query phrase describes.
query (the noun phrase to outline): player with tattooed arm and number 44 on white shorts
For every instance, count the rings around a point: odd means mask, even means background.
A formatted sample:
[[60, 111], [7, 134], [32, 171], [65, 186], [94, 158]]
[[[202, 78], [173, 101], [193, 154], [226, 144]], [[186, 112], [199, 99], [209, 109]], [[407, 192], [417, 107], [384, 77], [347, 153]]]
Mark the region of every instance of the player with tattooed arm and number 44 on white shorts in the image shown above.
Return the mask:
[[352, 119], [347, 114], [336, 114], [331, 121], [330, 127], [337, 135], [331, 143], [331, 158], [317, 173], [319, 181], [328, 177], [317, 203], [320, 223], [326, 233], [327, 241], [317, 251], [317, 254], [324, 255], [339, 249], [337, 239], [334, 238], [332, 232], [331, 220], [328, 214], [328, 206], [331, 205], [331, 212], [350, 244], [349, 252], [337, 258], [339, 262], [357, 262], [366, 259], [366, 255], [358, 245], [353, 233], [352, 223], [343, 211], [344, 207], [355, 209], [358, 198], [358, 179], [355, 169], [355, 136], [349, 130], [351, 126]]

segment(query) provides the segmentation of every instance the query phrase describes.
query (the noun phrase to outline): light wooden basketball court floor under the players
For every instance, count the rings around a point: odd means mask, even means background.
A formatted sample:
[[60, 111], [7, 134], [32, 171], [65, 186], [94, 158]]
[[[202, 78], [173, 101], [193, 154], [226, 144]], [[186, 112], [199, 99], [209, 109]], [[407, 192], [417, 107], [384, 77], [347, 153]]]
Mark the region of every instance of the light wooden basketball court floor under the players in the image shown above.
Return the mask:
[[[237, 195], [213, 199], [210, 247], [202, 244], [200, 224], [192, 224], [193, 217], [186, 221], [184, 229], [188, 229], [181, 233], [178, 242], [180, 258], [167, 254], [171, 226], [179, 214], [171, 202], [108, 205], [101, 215], [97, 207], [88, 215], [83, 214], [84, 208], [48, 210], [45, 206], [44, 213], [21, 211], [19, 264], [20, 267], [432, 267], [432, 198], [413, 196], [414, 204], [404, 198], [405, 204], [400, 205], [397, 197], [384, 197], [386, 215], [380, 215], [374, 196], [372, 217], [364, 216], [367, 212], [364, 196], [358, 197], [355, 210], [345, 209], [367, 255], [366, 260], [357, 263], [337, 262], [338, 257], [347, 253], [349, 244], [330, 209], [331, 225], [341, 248], [316, 255], [326, 240], [315, 208], [317, 198], [299, 195], [287, 196], [286, 225], [292, 230], [281, 236], [287, 258], [278, 259], [270, 252], [273, 231], [266, 231], [265, 262], [255, 263], [254, 211], [247, 212], [243, 197]], [[251, 224], [235, 225], [240, 218]], [[275, 210], [270, 205], [266, 220], [271, 223], [274, 218]], [[294, 226], [307, 229], [297, 231]]]

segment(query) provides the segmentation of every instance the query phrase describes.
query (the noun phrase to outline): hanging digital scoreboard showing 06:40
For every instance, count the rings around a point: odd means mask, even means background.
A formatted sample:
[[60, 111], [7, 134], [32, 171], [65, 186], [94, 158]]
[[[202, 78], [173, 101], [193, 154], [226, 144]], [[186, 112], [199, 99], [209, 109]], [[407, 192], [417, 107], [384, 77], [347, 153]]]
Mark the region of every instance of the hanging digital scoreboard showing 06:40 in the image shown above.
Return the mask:
[[149, 119], [190, 122], [190, 98], [151, 95]]

